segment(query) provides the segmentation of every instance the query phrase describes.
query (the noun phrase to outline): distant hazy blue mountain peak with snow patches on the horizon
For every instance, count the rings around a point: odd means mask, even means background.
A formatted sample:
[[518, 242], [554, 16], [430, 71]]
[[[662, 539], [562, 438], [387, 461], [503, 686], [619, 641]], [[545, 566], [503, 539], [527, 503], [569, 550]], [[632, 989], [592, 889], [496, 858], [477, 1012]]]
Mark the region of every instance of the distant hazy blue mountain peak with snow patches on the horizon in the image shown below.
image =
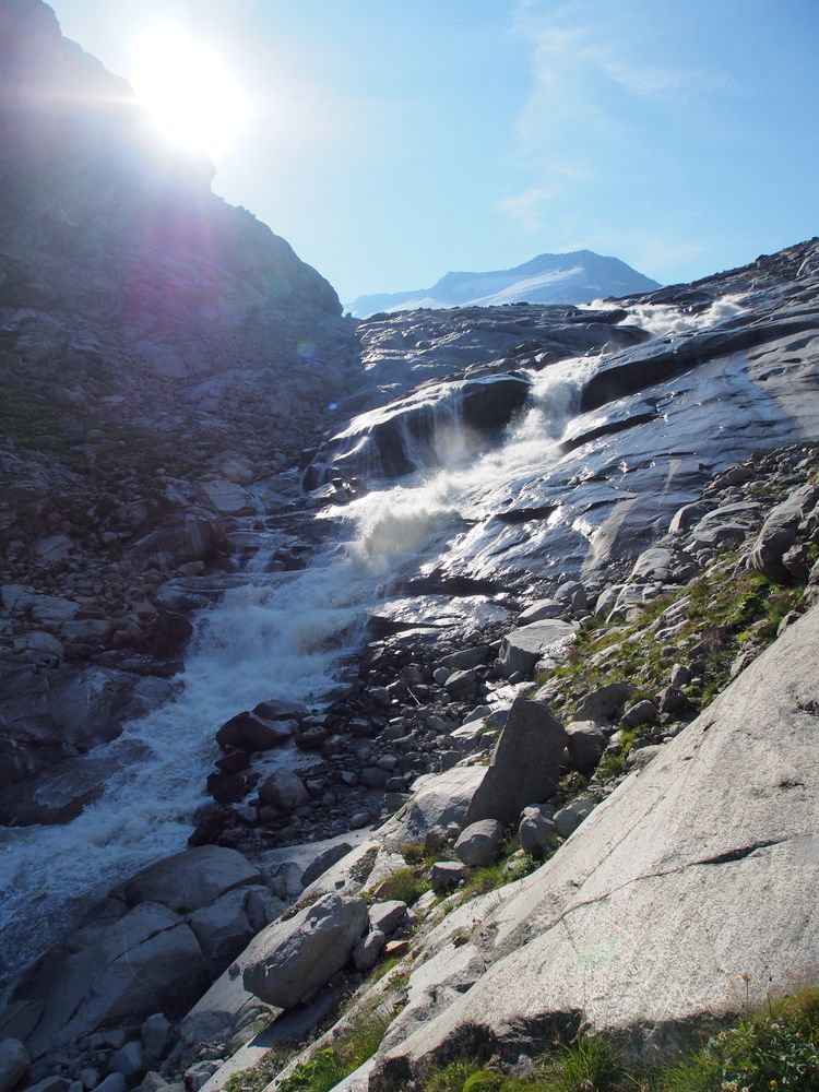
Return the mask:
[[446, 273], [431, 288], [373, 293], [349, 305], [353, 314], [394, 313], [419, 307], [499, 307], [502, 304], [591, 304], [595, 299], [651, 292], [660, 285], [619, 258], [593, 250], [538, 254], [511, 270]]

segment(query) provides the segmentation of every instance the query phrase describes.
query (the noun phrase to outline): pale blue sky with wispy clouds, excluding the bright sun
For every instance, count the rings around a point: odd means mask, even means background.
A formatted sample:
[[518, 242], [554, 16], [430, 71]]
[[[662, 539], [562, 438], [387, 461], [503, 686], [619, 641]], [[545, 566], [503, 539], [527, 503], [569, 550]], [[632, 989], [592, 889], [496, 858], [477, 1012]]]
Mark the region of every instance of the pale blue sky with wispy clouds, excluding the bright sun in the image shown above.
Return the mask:
[[174, 24], [252, 104], [213, 155], [345, 301], [587, 247], [663, 282], [819, 232], [819, 0], [51, 0], [126, 79]]

